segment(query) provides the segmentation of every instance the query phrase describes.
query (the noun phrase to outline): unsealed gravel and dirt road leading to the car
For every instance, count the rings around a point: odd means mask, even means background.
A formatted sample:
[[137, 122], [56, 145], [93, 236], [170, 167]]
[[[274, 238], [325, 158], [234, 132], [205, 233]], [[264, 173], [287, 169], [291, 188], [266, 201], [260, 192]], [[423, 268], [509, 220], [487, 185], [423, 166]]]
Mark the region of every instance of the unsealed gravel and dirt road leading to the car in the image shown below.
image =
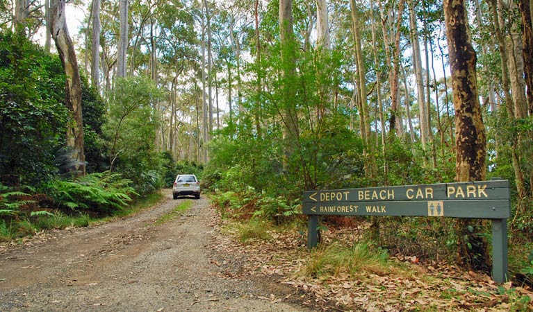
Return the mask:
[[[183, 200], [192, 207], [154, 222]], [[165, 200], [136, 216], [0, 249], [0, 311], [310, 311], [293, 288], [224, 254], [208, 201]]]

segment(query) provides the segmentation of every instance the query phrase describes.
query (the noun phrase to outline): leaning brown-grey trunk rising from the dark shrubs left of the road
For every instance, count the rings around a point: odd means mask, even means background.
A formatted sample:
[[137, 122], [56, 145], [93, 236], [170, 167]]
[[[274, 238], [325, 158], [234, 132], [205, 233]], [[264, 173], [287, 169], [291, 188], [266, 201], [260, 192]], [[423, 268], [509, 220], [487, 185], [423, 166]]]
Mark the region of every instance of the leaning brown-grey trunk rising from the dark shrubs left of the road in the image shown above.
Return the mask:
[[83, 153], [83, 119], [81, 114], [81, 80], [74, 44], [69, 36], [65, 20], [65, 0], [56, 0], [51, 10], [52, 36], [56, 42], [59, 58], [67, 80], [65, 103], [72, 114], [72, 123], [67, 126], [67, 151], [72, 162], [69, 171], [74, 176], [85, 175], [85, 154]]

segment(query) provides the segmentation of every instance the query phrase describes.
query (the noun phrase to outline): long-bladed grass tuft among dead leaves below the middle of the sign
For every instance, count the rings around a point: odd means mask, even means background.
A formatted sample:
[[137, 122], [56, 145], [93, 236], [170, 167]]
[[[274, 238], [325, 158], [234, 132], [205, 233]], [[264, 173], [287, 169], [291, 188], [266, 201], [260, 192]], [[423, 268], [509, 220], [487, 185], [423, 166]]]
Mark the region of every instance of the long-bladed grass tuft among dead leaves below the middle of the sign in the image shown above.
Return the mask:
[[361, 271], [388, 275], [397, 272], [397, 268], [388, 261], [386, 250], [373, 250], [366, 243], [356, 243], [351, 248], [332, 243], [313, 250], [311, 260], [300, 272], [311, 277], [330, 277]]

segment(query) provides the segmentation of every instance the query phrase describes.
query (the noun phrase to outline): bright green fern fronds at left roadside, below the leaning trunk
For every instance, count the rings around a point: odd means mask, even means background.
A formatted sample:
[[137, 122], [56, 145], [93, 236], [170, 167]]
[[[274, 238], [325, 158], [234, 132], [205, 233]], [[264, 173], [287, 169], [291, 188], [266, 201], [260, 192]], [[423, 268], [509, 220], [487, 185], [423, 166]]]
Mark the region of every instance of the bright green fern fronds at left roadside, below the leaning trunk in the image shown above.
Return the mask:
[[75, 181], [53, 180], [47, 184], [47, 191], [58, 208], [111, 214], [129, 205], [131, 196], [138, 195], [130, 185], [131, 180], [107, 171], [79, 177]]

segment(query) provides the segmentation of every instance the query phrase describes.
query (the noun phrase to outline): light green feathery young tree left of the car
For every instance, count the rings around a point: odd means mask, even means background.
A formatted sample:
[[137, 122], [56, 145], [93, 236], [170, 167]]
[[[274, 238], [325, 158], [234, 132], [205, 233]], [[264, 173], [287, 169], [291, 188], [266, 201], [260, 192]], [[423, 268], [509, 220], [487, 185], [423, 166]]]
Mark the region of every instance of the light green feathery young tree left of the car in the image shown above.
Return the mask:
[[153, 81], [141, 77], [117, 80], [108, 94], [108, 120], [103, 130], [111, 169], [129, 177], [140, 194], [163, 185], [165, 158], [155, 150], [160, 121], [153, 110], [161, 96]]

